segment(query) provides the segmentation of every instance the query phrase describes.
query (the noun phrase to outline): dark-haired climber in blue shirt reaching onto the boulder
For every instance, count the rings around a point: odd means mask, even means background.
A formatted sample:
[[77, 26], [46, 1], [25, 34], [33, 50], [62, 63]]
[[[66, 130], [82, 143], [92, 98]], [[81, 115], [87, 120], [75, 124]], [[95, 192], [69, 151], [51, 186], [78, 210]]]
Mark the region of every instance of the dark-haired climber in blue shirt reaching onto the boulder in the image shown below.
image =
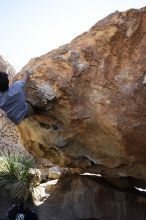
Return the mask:
[[27, 70], [22, 80], [9, 85], [8, 75], [0, 71], [0, 108], [15, 124], [19, 124], [32, 111], [25, 98], [25, 87], [32, 73], [31, 69]]

